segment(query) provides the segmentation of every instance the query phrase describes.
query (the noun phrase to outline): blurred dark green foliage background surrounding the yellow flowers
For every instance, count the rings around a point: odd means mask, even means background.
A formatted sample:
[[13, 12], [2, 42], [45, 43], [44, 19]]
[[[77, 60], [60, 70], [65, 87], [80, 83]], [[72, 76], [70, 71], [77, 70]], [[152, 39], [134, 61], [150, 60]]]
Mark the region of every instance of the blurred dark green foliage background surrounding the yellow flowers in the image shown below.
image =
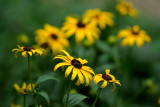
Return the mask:
[[[114, 0], [1, 0], [0, 1], [0, 106], [10, 107], [12, 102], [22, 105], [22, 97], [13, 88], [14, 83], [21, 84], [27, 81], [27, 58], [14, 57], [11, 52], [18, 44], [17, 38], [21, 34], [29, 37], [28, 45], [33, 45], [35, 31], [48, 23], [61, 27], [66, 16], [80, 16], [87, 9], [99, 8], [115, 14], [115, 27], [102, 31], [101, 40], [91, 47], [76, 45], [70, 49], [73, 56], [86, 58], [95, 73], [111, 69], [112, 74], [120, 80], [122, 87], [117, 86], [111, 92], [112, 86], [102, 90], [97, 107], [156, 107], [160, 96], [160, 4], [159, 0], [132, 0], [139, 10], [136, 18], [120, 17], [115, 11]], [[118, 24], [116, 25], [116, 22]], [[139, 25], [146, 30], [152, 41], [142, 48], [120, 47], [117, 51], [123, 61], [121, 72], [116, 69], [115, 52], [107, 43], [110, 35], [128, 25]], [[103, 38], [103, 39], [102, 39]], [[52, 61], [53, 56], [32, 57], [31, 67], [34, 80], [43, 74], [54, 75], [60, 81], [47, 81], [41, 84], [40, 89], [45, 90], [50, 97], [49, 107], [63, 107], [62, 99], [66, 93], [67, 83], [64, 72], [53, 72], [57, 63]], [[89, 107], [96, 96], [98, 86], [93, 83], [89, 87], [72, 85], [72, 92], [78, 92], [89, 97], [77, 107]], [[42, 97], [38, 97], [38, 104], [48, 107]], [[28, 105], [32, 98], [27, 98]]]

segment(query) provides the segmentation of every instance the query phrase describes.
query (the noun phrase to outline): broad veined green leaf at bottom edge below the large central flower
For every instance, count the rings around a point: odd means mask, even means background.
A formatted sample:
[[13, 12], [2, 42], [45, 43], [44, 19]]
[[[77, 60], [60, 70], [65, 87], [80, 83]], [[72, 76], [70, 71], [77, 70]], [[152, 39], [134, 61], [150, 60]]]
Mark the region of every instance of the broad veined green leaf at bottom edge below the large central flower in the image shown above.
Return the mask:
[[[80, 102], [82, 102], [86, 98], [88, 98], [88, 97], [84, 96], [82, 94], [70, 93], [69, 94], [68, 106], [72, 107], [74, 105], [77, 105], [77, 104], [79, 104]], [[63, 103], [64, 104], [66, 104], [66, 100], [67, 100], [67, 95], [65, 95], [64, 98], [63, 98]]]

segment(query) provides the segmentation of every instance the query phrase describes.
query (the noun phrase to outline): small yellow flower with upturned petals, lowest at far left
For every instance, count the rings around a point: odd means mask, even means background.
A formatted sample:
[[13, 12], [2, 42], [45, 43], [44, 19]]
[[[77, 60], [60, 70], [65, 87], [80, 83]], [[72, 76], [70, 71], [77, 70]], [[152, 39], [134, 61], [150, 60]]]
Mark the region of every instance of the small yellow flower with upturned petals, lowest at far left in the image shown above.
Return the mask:
[[20, 88], [16, 83], [13, 85], [13, 87], [20, 94], [28, 94], [28, 92], [32, 92], [32, 88], [35, 88], [35, 85], [32, 84], [32, 86], [31, 86], [31, 84], [28, 84], [28, 86], [27, 86], [26, 83], [23, 82], [22, 88]]

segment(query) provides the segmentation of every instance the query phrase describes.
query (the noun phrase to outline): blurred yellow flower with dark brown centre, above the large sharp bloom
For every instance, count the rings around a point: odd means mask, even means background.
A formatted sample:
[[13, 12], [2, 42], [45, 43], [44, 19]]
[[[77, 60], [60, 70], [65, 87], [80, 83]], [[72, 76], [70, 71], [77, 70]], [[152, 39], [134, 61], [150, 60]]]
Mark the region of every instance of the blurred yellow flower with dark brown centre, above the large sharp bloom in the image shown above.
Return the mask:
[[93, 24], [85, 22], [83, 19], [78, 20], [74, 17], [66, 17], [66, 21], [62, 27], [66, 37], [69, 38], [75, 34], [75, 40], [80, 43], [85, 37], [90, 41], [94, 42], [95, 39], [99, 39], [99, 29]]

